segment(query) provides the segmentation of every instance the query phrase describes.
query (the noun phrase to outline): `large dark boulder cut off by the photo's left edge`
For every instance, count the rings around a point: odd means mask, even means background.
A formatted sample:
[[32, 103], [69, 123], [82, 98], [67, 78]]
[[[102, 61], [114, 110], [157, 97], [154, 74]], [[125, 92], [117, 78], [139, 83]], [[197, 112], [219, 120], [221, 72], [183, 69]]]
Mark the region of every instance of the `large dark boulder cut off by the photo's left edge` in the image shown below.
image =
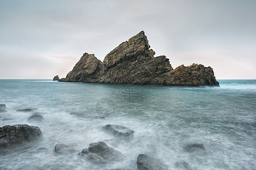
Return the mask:
[[6, 125], [0, 128], [0, 148], [35, 141], [40, 137], [42, 137], [42, 131], [37, 126], [29, 126], [26, 124]]

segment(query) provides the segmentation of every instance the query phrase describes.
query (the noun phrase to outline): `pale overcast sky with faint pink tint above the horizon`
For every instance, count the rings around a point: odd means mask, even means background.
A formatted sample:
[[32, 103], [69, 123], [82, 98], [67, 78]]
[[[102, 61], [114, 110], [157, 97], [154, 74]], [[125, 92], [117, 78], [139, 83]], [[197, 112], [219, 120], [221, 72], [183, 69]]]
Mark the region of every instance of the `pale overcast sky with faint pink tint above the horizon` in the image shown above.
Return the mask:
[[144, 31], [172, 67], [256, 79], [256, 1], [0, 0], [0, 79], [65, 77], [85, 52], [103, 61]]

